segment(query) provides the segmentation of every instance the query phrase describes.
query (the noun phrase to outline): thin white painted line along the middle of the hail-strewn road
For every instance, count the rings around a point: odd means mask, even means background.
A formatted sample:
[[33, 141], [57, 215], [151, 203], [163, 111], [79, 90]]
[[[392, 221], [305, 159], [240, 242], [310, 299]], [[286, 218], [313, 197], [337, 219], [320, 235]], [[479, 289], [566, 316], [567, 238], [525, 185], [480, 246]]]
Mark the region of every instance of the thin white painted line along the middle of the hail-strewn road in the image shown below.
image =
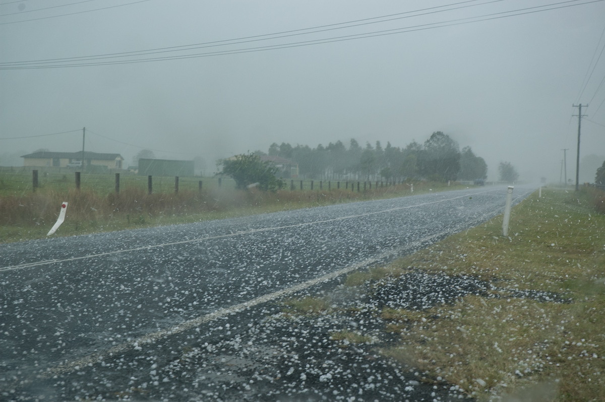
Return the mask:
[[201, 242], [201, 241], [207, 241], [207, 240], [213, 240], [213, 239], [228, 238], [228, 237], [232, 237], [232, 236], [248, 235], [250, 233], [267, 232], [267, 231], [270, 231], [270, 230], [289, 229], [289, 228], [292, 228], [292, 227], [301, 227], [301, 226], [315, 225], [315, 224], [326, 223], [326, 222], [342, 221], [343, 219], [359, 218], [361, 216], [370, 216], [370, 215], [376, 215], [378, 213], [393, 212], [393, 211], [397, 211], [397, 210], [410, 209], [410, 208], [414, 208], [414, 207], [422, 207], [422, 206], [430, 205], [430, 204], [443, 203], [445, 201], [451, 201], [453, 199], [459, 199], [459, 198], [464, 198], [466, 196], [473, 196], [473, 195], [477, 195], [477, 194], [482, 194], [482, 193], [487, 193], [487, 192], [493, 192], [493, 191], [499, 191], [499, 190], [501, 190], [501, 189], [498, 189], [498, 190], [495, 190], [495, 189], [494, 190], [486, 190], [486, 191], [481, 191], [481, 192], [477, 192], [477, 193], [469, 193], [469, 194], [465, 194], [465, 195], [460, 195], [460, 196], [453, 197], [453, 198], [439, 199], [437, 201], [431, 201], [430, 203], [422, 203], [422, 204], [415, 204], [415, 205], [405, 206], [405, 207], [397, 207], [397, 208], [385, 209], [385, 210], [382, 210], [382, 211], [362, 213], [362, 214], [359, 214], [359, 215], [339, 216], [338, 218], [325, 219], [323, 221], [313, 221], [313, 222], [306, 222], [306, 223], [301, 223], [301, 224], [285, 225], [285, 226], [278, 226], [278, 227], [266, 227], [266, 228], [263, 228], [263, 229], [252, 229], [252, 230], [246, 230], [244, 232], [229, 233], [227, 235], [208, 236], [208, 237], [205, 237], [205, 238], [190, 239], [190, 240], [183, 240], [183, 241], [177, 241], [177, 242], [169, 242], [169, 243], [163, 243], [163, 244], [145, 245], [143, 247], [127, 248], [125, 250], [108, 251], [106, 253], [89, 254], [89, 255], [80, 256], [80, 257], [72, 257], [72, 258], [65, 258], [65, 259], [51, 259], [51, 260], [38, 261], [38, 262], [28, 262], [27, 264], [11, 265], [11, 266], [8, 266], [8, 267], [0, 267], [0, 272], [2, 272], [2, 271], [20, 270], [20, 269], [24, 269], [24, 268], [39, 267], [41, 265], [56, 264], [58, 262], [70, 262], [70, 261], [78, 261], [78, 260], [81, 260], [81, 259], [105, 257], [105, 256], [113, 255], [113, 254], [129, 253], [131, 251], [149, 250], [151, 248], [166, 247], [166, 246], [169, 246], [169, 245], [188, 244], [188, 243]]

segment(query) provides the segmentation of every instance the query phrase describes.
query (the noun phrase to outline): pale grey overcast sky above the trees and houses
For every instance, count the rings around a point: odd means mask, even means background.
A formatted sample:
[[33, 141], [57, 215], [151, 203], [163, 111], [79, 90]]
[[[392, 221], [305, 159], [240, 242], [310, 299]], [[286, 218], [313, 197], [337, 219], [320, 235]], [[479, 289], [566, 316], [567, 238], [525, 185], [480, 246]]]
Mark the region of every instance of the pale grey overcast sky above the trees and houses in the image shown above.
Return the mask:
[[[605, 1], [591, 1], [0, 0], [0, 155], [80, 151], [85, 127], [87, 151], [213, 170], [273, 142], [404, 147], [443, 131], [491, 179], [510, 161], [558, 181], [564, 148], [575, 178], [572, 105], [589, 103], [580, 157], [605, 159]], [[59, 62], [12, 63], [39, 60]]]

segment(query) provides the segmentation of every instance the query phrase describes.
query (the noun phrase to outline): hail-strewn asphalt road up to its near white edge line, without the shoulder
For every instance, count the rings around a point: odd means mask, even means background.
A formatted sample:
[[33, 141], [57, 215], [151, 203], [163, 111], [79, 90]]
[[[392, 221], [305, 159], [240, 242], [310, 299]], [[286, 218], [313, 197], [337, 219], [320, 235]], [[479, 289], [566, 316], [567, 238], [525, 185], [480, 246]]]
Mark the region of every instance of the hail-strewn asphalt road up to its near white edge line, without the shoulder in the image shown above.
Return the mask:
[[[517, 187], [514, 202], [531, 190]], [[90, 397], [131, 376], [112, 358], [157, 348], [148, 358], [161, 360], [222, 317], [486, 221], [505, 196], [473, 188], [1, 245], [0, 400]]]

